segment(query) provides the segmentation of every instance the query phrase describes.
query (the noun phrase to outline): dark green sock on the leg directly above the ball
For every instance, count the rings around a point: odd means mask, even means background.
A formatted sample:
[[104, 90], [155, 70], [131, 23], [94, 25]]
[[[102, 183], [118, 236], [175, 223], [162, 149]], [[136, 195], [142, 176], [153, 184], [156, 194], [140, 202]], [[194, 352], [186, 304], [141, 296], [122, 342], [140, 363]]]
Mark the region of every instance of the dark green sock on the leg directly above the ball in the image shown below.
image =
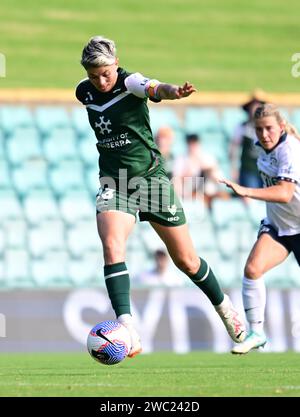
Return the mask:
[[131, 314], [130, 282], [125, 262], [104, 265], [104, 278], [112, 308], [116, 316]]

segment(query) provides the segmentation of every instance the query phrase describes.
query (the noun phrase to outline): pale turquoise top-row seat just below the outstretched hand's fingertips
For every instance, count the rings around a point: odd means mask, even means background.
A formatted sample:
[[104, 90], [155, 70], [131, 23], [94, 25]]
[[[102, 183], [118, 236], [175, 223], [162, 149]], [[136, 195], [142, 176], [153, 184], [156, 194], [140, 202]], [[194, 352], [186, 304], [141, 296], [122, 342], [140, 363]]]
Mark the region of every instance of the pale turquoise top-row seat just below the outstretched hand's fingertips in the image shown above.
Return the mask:
[[222, 133], [219, 114], [213, 107], [188, 107], [185, 112], [184, 130], [197, 133], [200, 137], [204, 132]]

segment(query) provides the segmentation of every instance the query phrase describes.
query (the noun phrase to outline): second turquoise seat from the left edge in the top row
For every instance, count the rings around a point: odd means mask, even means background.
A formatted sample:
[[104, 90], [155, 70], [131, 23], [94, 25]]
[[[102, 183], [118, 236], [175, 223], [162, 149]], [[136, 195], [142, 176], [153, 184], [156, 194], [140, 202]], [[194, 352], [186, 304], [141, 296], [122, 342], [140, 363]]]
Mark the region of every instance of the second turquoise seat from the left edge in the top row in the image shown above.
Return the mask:
[[47, 136], [56, 127], [70, 127], [71, 121], [63, 106], [38, 106], [34, 112], [35, 121], [42, 135]]

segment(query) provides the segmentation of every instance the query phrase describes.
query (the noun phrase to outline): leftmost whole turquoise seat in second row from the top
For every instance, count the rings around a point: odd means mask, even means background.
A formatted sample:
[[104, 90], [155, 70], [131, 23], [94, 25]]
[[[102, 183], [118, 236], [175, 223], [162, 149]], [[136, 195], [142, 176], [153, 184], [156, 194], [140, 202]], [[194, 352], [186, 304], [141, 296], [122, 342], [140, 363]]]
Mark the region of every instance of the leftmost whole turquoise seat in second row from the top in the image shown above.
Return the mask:
[[40, 138], [34, 127], [17, 128], [7, 140], [7, 156], [13, 165], [30, 160], [44, 160]]

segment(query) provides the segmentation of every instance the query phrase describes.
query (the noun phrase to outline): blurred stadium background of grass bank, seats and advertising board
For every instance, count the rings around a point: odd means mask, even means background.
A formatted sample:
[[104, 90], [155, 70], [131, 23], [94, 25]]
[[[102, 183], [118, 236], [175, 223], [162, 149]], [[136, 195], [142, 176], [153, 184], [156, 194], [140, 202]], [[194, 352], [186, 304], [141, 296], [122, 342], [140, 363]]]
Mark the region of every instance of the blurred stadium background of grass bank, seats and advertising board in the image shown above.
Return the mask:
[[[94, 35], [116, 42], [128, 71], [196, 86], [188, 99], [149, 104], [151, 125], [197, 251], [242, 310], [264, 203], [216, 178], [257, 174], [244, 166], [245, 155], [255, 160], [252, 105], [274, 102], [300, 129], [299, 13], [296, 0], [1, 1], [0, 351], [83, 351], [87, 331], [113, 318], [95, 223], [96, 139], [74, 96]], [[186, 176], [203, 179], [188, 196]], [[127, 264], [145, 352], [228, 351], [211, 305], [148, 224], [130, 236]], [[292, 256], [266, 275], [270, 351], [300, 350], [299, 278]]]

